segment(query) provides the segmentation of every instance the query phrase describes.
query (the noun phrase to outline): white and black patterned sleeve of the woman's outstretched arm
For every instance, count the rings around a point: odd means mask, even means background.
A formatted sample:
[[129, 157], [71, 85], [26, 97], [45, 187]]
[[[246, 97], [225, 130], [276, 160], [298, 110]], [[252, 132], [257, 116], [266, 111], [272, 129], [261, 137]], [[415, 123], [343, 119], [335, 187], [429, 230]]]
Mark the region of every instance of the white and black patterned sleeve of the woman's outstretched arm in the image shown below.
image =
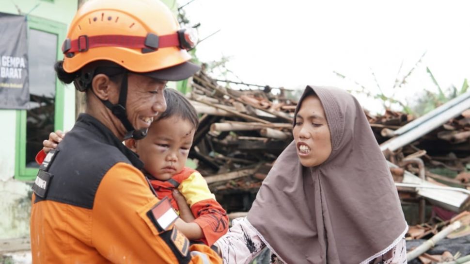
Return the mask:
[[214, 245], [219, 247], [223, 263], [248, 264], [266, 247], [260, 236], [246, 217], [236, 218]]

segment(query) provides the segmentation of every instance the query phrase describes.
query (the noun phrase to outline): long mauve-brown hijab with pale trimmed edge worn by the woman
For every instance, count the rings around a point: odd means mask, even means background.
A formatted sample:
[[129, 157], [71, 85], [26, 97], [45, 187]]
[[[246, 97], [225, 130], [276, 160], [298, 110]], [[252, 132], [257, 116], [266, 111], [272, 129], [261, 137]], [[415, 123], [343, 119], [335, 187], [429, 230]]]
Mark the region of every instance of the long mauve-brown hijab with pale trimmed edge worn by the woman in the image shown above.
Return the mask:
[[332, 152], [304, 167], [292, 142], [279, 156], [248, 220], [288, 264], [368, 263], [407, 231], [396, 187], [358, 101], [332, 87], [307, 86], [318, 96]]

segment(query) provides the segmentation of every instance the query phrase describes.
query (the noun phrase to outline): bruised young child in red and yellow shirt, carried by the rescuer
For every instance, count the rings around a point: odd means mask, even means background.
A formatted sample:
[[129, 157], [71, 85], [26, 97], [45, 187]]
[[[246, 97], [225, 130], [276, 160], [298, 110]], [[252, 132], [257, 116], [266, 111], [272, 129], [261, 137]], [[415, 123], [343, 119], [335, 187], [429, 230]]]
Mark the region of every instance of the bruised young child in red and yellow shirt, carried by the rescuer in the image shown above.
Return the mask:
[[[194, 107], [181, 93], [165, 89], [167, 109], [153, 121], [148, 134], [141, 140], [128, 139], [125, 145], [139, 154], [144, 163], [144, 175], [155, 189], [157, 197], [168, 197], [179, 212], [173, 192], [178, 190], [194, 216], [192, 222], [177, 221], [178, 230], [189, 240], [211, 246], [228, 230], [228, 217], [207, 182], [196, 170], [185, 167], [199, 119]], [[63, 133], [51, 133], [49, 141], [36, 157], [42, 163], [50, 148], [61, 141]], [[55, 143], [54, 143], [55, 142]], [[178, 195], [175, 193], [175, 195]], [[183, 212], [182, 212], [183, 213]]]

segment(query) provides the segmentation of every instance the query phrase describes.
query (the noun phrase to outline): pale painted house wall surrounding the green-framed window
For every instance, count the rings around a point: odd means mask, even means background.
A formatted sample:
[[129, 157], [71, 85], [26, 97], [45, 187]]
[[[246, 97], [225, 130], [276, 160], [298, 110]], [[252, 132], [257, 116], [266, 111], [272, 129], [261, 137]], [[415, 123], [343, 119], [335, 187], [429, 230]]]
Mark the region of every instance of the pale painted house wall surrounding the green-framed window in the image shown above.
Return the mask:
[[[52, 24], [57, 23], [66, 28], [77, 11], [77, 0], [0, 0], [0, 12], [19, 15], [18, 9], [21, 15], [29, 13], [31, 23], [32, 20], [47, 19]], [[64, 104], [63, 128], [70, 129], [75, 120], [75, 89], [73, 85], [65, 86], [61, 92]], [[0, 130], [0, 138], [5, 139], [3, 148], [0, 148], [0, 239], [29, 235], [31, 184], [13, 178], [17, 149], [15, 142], [19, 135], [17, 114], [20, 112], [0, 109], [0, 120], [8, 128]]]

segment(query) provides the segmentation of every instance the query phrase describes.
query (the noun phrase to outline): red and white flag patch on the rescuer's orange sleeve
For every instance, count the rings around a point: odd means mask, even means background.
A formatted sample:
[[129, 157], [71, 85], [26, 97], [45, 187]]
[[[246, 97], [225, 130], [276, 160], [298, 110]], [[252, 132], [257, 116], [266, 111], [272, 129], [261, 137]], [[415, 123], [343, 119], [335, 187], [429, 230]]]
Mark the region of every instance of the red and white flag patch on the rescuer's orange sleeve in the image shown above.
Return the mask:
[[167, 197], [160, 200], [150, 209], [147, 212], [147, 216], [152, 220], [159, 232], [171, 230], [174, 222], [178, 219], [178, 214], [172, 208], [172, 204]]

